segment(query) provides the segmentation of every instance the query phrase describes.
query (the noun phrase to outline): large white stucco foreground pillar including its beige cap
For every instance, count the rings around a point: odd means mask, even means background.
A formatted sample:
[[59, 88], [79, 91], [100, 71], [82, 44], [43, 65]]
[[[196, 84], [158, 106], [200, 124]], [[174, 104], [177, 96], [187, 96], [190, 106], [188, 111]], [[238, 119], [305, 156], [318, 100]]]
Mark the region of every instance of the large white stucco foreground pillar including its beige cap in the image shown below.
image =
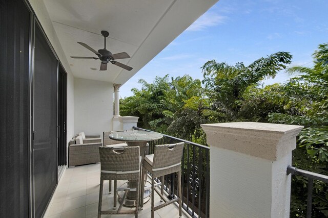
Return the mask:
[[201, 125], [210, 151], [211, 217], [289, 217], [292, 151], [302, 126]]

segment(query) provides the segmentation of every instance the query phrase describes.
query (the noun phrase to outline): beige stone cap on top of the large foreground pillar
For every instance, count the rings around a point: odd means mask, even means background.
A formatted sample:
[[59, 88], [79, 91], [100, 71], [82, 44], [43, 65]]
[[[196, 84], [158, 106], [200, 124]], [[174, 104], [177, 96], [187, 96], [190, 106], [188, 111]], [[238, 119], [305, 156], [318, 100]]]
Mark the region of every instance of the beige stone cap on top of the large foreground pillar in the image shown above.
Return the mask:
[[207, 143], [268, 160], [278, 160], [296, 148], [303, 126], [254, 122], [203, 124]]

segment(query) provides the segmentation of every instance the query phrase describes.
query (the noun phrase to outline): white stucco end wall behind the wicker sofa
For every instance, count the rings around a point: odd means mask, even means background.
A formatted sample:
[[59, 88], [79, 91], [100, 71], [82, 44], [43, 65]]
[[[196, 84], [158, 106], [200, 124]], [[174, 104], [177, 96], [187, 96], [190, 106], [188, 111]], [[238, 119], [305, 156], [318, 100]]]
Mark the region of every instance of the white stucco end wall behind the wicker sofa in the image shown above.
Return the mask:
[[110, 131], [113, 118], [113, 83], [74, 79], [75, 134], [103, 135]]

